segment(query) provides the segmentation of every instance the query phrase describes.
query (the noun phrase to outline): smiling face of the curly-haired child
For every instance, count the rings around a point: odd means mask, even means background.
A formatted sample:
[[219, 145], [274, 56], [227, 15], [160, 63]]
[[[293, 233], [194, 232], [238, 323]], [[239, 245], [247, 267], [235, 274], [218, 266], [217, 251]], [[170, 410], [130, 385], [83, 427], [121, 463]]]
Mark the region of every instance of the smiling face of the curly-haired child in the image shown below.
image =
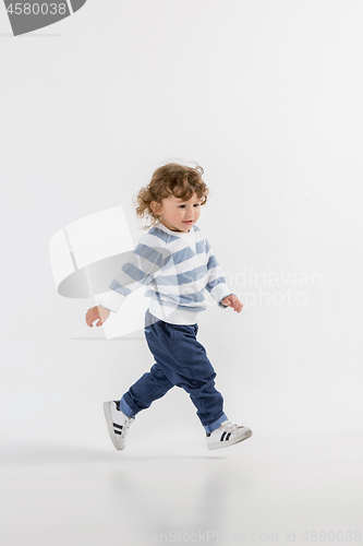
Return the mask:
[[170, 195], [162, 199], [161, 207], [155, 203], [157, 214], [160, 214], [160, 222], [172, 232], [187, 233], [196, 223], [201, 215], [201, 199], [193, 193], [189, 201]]

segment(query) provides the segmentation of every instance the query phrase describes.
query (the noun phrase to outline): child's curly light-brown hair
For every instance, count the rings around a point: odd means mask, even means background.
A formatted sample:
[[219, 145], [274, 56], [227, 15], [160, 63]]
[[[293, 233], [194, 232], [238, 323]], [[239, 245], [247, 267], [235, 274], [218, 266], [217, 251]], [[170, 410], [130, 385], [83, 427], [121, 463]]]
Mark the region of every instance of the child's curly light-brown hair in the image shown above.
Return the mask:
[[143, 229], [148, 229], [159, 223], [159, 217], [152, 210], [152, 201], [161, 205], [162, 199], [168, 199], [170, 195], [187, 201], [195, 192], [201, 199], [201, 205], [204, 205], [209, 190], [202, 179], [203, 175], [204, 169], [199, 165], [187, 167], [178, 163], [167, 163], [157, 168], [150, 182], [133, 198], [137, 216], [149, 221]]

